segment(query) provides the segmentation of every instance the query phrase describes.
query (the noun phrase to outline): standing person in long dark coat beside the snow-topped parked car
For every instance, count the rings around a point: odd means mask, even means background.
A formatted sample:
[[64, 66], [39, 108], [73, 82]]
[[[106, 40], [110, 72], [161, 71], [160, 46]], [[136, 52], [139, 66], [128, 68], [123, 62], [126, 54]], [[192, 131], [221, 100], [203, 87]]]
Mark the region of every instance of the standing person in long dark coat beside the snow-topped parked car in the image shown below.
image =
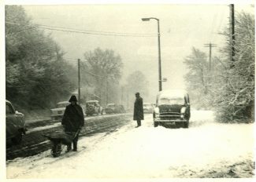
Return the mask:
[[137, 126], [141, 126], [141, 120], [144, 119], [143, 113], [143, 98], [139, 96], [139, 93], [135, 93], [135, 103], [134, 103], [134, 111], [133, 111], [133, 120], [137, 121]]

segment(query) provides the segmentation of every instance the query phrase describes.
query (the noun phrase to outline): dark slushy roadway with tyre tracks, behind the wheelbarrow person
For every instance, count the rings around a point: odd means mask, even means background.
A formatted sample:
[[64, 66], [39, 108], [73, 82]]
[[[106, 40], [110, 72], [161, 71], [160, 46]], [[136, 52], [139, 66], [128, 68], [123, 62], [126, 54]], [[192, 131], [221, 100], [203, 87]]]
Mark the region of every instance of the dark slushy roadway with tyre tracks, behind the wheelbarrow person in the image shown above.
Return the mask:
[[[81, 130], [80, 136], [93, 136], [95, 133], [105, 132], [111, 133], [131, 121], [131, 115], [104, 115], [100, 117], [88, 117], [85, 119], [85, 126]], [[36, 122], [28, 126], [28, 128], [30, 128], [29, 130], [32, 132], [28, 132], [28, 134], [24, 135], [21, 144], [13, 145], [8, 142], [6, 143], [6, 160], [37, 155], [43, 151], [49, 150], [51, 147], [50, 140], [47, 140], [43, 134], [50, 134], [62, 130], [62, 126], [56, 125], [56, 122], [48, 121], [50, 126], [53, 125], [53, 127], [50, 128], [47, 121]], [[35, 129], [36, 127], [42, 126], [47, 127], [46, 129], [42, 128], [41, 130]], [[33, 129], [35, 129], [34, 132]]]

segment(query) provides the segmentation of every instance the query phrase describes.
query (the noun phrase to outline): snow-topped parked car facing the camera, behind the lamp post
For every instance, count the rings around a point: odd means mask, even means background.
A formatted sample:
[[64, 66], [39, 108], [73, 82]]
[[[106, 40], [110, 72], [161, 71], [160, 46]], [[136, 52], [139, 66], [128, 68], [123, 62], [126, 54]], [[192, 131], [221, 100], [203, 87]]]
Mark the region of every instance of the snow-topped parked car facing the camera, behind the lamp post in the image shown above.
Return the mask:
[[190, 101], [185, 91], [164, 90], [158, 93], [153, 114], [154, 127], [174, 124], [188, 128], [190, 116]]

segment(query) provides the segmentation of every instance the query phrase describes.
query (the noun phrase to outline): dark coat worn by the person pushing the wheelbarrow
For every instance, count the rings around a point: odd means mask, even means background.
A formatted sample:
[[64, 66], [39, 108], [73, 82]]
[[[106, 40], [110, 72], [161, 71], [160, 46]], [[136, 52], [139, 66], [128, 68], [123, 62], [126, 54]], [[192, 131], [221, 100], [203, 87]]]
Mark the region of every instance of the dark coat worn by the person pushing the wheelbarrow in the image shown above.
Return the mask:
[[61, 124], [65, 127], [65, 132], [77, 132], [80, 127], [84, 126], [82, 107], [78, 104], [69, 104], [65, 108]]

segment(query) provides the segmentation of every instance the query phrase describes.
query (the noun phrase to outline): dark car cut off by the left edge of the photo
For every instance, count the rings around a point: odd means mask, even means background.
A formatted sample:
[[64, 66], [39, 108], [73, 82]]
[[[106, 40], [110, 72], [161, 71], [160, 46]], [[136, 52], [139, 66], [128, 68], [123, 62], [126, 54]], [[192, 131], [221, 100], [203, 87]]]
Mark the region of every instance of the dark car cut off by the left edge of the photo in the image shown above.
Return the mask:
[[13, 104], [6, 100], [6, 140], [20, 144], [26, 130], [24, 114], [15, 111]]

